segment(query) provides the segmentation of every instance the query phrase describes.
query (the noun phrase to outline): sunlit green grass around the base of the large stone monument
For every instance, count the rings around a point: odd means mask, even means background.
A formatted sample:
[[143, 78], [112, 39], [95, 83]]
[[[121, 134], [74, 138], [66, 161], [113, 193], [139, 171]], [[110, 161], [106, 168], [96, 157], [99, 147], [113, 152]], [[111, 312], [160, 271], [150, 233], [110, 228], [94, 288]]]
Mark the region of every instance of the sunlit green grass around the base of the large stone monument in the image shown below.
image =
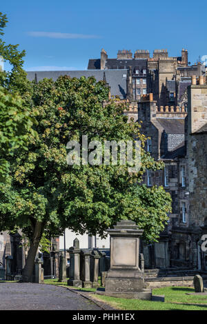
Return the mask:
[[[58, 279], [45, 280], [53, 285], [67, 285], [59, 283]], [[75, 287], [71, 287], [75, 289]], [[95, 292], [95, 288], [76, 288], [85, 292]], [[139, 299], [115, 298], [92, 294], [92, 298], [108, 303], [117, 310], [207, 310], [207, 295], [195, 296], [186, 293], [194, 292], [191, 287], [164, 287], [152, 290], [154, 295], [165, 295], [165, 302], [141, 301]]]

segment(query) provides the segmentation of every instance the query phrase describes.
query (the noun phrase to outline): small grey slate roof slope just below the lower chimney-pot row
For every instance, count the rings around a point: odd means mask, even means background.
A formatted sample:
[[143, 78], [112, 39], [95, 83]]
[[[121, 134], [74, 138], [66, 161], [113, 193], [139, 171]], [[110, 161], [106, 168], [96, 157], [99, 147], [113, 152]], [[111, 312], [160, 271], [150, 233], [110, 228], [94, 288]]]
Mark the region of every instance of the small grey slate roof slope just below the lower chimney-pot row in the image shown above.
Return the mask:
[[157, 121], [164, 128], [166, 134], [184, 134], [185, 119], [184, 118], [157, 118]]

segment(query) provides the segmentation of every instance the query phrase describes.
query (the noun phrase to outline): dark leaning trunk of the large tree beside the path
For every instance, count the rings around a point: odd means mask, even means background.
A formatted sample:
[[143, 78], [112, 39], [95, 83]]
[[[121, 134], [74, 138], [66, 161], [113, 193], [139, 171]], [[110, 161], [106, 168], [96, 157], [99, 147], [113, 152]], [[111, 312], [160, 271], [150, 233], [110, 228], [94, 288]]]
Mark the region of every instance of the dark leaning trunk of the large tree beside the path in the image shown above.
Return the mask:
[[22, 279], [24, 283], [32, 282], [33, 268], [35, 256], [37, 254], [37, 249], [39, 246], [39, 241], [41, 240], [41, 236], [43, 234], [43, 223], [37, 221], [34, 227], [34, 234], [32, 237], [32, 241], [30, 243], [30, 249], [28, 251], [28, 257], [26, 259], [26, 265], [22, 270]]

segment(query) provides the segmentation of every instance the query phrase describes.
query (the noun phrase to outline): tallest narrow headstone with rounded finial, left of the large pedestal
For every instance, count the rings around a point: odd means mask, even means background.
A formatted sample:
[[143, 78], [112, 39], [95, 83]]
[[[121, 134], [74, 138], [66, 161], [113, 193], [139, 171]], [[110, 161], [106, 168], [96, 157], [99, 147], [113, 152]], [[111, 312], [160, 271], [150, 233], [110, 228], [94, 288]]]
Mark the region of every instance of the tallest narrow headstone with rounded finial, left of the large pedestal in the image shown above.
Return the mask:
[[69, 280], [68, 285], [74, 287], [82, 287], [82, 281], [80, 279], [80, 249], [79, 240], [76, 238], [73, 241], [72, 247], [70, 247], [70, 267], [69, 267]]

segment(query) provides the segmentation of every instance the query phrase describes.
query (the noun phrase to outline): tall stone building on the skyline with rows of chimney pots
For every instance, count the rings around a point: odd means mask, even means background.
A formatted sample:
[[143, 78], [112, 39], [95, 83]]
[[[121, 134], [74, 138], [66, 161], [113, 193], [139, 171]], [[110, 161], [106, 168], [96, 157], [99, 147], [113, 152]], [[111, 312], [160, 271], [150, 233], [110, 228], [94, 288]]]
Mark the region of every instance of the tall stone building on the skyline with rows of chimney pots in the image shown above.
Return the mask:
[[[188, 65], [188, 51], [182, 49], [181, 57], [169, 57], [167, 50], [119, 50], [116, 59], [109, 59], [101, 50], [100, 59], [89, 59], [88, 70], [128, 70], [128, 94], [130, 101], [140, 101], [153, 93], [157, 105], [186, 105], [186, 88], [191, 76], [204, 75], [201, 63]], [[184, 95], [185, 93], [185, 95]]]

